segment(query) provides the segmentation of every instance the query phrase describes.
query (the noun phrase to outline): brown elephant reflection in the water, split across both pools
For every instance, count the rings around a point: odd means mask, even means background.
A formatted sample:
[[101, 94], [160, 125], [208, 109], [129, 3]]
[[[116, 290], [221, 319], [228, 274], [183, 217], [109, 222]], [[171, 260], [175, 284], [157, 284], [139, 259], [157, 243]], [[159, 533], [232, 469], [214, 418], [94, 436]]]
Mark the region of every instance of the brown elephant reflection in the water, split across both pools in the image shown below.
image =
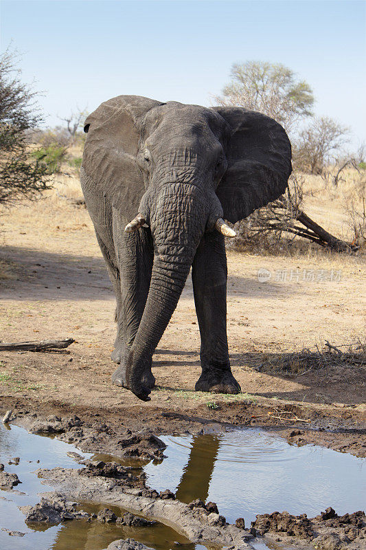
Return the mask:
[[[183, 503], [189, 503], [196, 498], [207, 500], [219, 445], [220, 439], [216, 435], [207, 434], [193, 438], [190, 456], [176, 490], [177, 499]], [[93, 511], [98, 514], [106, 506], [93, 505]], [[89, 507], [87, 509], [89, 511]], [[122, 514], [119, 509], [114, 509], [114, 511], [117, 515]], [[95, 520], [92, 522], [76, 520], [62, 525], [52, 550], [102, 550], [113, 540], [129, 537], [156, 550], [166, 550], [167, 548], [194, 550], [196, 547], [196, 544], [188, 542], [184, 536], [159, 523], [154, 527], [136, 528], [120, 527]], [[179, 544], [174, 544], [175, 542]]]

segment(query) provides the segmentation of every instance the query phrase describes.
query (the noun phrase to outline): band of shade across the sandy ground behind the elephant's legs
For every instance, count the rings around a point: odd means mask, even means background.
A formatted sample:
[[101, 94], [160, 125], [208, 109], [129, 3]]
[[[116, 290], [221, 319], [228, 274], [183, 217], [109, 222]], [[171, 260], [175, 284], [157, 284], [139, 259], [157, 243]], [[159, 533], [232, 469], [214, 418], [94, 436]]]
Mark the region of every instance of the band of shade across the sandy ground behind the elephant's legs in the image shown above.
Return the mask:
[[[114, 298], [104, 259], [78, 254], [5, 246], [0, 260], [10, 263], [14, 278], [2, 281], [1, 297], [11, 300], [111, 300]], [[245, 276], [230, 276], [227, 296], [268, 298], [295, 292], [290, 285], [259, 283]], [[189, 277], [181, 300], [192, 299]]]

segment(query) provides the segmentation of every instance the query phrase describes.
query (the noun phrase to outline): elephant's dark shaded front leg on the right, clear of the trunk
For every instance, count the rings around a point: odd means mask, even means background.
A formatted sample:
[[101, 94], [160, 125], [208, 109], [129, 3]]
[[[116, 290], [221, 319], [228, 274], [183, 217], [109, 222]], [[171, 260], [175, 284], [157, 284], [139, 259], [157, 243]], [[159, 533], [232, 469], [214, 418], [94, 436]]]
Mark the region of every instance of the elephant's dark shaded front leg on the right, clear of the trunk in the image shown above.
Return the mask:
[[227, 261], [224, 237], [205, 233], [192, 264], [194, 303], [201, 332], [202, 374], [196, 391], [239, 393], [227, 347]]

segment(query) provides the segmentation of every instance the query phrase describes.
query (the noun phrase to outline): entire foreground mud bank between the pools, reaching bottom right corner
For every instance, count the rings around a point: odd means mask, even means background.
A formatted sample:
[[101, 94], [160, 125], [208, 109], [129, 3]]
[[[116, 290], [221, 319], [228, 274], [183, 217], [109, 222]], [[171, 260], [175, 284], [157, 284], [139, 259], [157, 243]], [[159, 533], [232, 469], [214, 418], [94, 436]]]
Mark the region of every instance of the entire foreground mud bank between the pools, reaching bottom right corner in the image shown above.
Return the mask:
[[[184, 504], [176, 500], [175, 495], [168, 490], [158, 494], [146, 487], [144, 474], [135, 476], [131, 474], [131, 468], [102, 461], [86, 460], [84, 463], [85, 467], [81, 470], [60, 467], [38, 470], [38, 476], [47, 485], [55, 486], [60, 493], [47, 494], [47, 498], [43, 498], [36, 506], [25, 507], [23, 511], [27, 514], [27, 522], [60, 522], [65, 519], [87, 518], [89, 521], [148, 527], [157, 520], [172, 527], [191, 542], [216, 544], [231, 550], [253, 549], [253, 542], [258, 540], [258, 536], [263, 537], [268, 544], [277, 544], [279, 548], [366, 549], [364, 511], [338, 516], [329, 507], [314, 518], [308, 518], [306, 514], [293, 516], [286, 511], [276, 511], [272, 514], [258, 514], [248, 529], [242, 518], [238, 518], [235, 525], [227, 523], [225, 517], [219, 514], [215, 503], [194, 500]], [[76, 511], [76, 502], [67, 500], [69, 498], [109, 503], [128, 509], [130, 513], [127, 512], [119, 518], [106, 508], [98, 516], [89, 515], [84, 511]], [[134, 513], [141, 514], [148, 520], [139, 518]], [[119, 540], [113, 544], [108, 550], [146, 548], [136, 546], [135, 541], [130, 540]]]

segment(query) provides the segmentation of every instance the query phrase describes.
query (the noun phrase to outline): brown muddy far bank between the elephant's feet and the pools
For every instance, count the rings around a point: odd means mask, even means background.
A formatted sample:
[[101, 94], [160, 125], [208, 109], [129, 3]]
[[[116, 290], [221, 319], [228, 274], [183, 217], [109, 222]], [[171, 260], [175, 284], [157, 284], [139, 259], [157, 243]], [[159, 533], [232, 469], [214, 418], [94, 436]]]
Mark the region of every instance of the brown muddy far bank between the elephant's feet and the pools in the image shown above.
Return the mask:
[[[289, 443], [321, 445], [354, 456], [366, 456], [366, 412], [363, 408], [324, 406], [314, 409], [290, 404], [274, 406], [265, 401], [230, 403], [214, 409], [200, 405], [187, 412], [166, 406], [135, 406], [126, 410], [42, 403], [37, 404], [38, 412], [32, 413], [21, 401], [14, 403], [3, 399], [3, 412], [12, 408], [13, 421], [32, 432], [62, 434], [64, 441], [82, 450], [115, 456], [130, 454], [151, 459], [153, 455], [161, 459], [163, 448], [149, 442], [149, 434], [200, 434], [233, 427], [272, 429]], [[73, 419], [76, 415], [78, 420]], [[138, 434], [141, 441], [133, 443], [132, 434]]]

